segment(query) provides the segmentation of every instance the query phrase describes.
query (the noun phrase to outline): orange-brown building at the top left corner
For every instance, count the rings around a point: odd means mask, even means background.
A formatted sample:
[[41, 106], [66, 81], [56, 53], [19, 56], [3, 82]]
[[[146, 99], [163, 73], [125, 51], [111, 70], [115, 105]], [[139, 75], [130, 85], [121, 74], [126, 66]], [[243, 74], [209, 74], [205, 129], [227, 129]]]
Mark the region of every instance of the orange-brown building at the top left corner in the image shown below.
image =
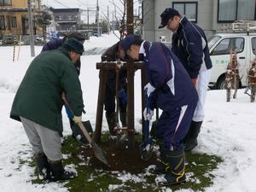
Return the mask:
[[[41, 8], [41, 0], [32, 0], [32, 14], [37, 15]], [[27, 17], [27, 0], [0, 0], [0, 35], [29, 34]], [[34, 23], [34, 33], [41, 30]]]

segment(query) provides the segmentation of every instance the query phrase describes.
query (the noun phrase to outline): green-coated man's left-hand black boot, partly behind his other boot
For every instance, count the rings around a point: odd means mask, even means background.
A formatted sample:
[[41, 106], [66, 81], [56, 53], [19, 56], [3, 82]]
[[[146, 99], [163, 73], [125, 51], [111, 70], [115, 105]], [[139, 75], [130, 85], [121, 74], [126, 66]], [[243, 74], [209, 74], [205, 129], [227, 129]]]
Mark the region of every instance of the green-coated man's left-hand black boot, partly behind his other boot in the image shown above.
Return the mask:
[[41, 180], [50, 180], [49, 162], [44, 152], [35, 155], [36, 164], [38, 166], [38, 177]]

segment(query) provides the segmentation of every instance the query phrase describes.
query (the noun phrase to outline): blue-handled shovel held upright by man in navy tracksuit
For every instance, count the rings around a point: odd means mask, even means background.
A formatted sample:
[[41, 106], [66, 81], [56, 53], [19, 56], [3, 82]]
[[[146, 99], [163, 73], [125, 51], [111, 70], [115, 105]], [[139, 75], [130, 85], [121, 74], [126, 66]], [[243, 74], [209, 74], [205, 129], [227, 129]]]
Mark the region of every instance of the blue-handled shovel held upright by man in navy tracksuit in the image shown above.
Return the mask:
[[[150, 100], [151, 100], [151, 95], [147, 96], [146, 99], [146, 107], [147, 107], [147, 112], [149, 113], [150, 111]], [[139, 152], [141, 154], [142, 160], [149, 160], [151, 158], [151, 155], [153, 154], [153, 137], [149, 137], [149, 120], [147, 119], [145, 121], [145, 137], [143, 143], [139, 145]]]

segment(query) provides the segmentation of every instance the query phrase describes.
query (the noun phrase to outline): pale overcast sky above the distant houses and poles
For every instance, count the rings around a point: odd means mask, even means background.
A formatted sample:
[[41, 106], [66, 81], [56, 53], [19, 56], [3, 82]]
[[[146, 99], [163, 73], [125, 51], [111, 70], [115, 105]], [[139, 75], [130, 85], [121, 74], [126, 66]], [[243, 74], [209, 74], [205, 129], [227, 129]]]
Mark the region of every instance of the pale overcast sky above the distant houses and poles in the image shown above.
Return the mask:
[[[106, 15], [108, 13], [109, 9], [109, 20], [113, 20], [113, 2], [118, 6], [119, 8], [116, 9], [117, 11], [117, 17], [120, 18], [122, 15], [121, 10], [123, 10], [124, 6], [122, 5], [122, 0], [99, 0], [99, 7], [100, 7], [100, 19], [106, 18]], [[136, 15], [137, 12], [137, 1], [135, 2], [135, 9], [134, 14]], [[89, 8], [90, 10], [96, 10], [96, 0], [42, 0], [42, 4], [45, 4], [47, 6], [51, 6], [56, 9], [60, 8], [79, 8], [83, 10], [87, 10]], [[119, 10], [121, 9], [121, 10]], [[95, 20], [95, 11], [90, 11], [90, 21]], [[87, 12], [83, 11], [82, 13], [82, 20], [87, 20]]]

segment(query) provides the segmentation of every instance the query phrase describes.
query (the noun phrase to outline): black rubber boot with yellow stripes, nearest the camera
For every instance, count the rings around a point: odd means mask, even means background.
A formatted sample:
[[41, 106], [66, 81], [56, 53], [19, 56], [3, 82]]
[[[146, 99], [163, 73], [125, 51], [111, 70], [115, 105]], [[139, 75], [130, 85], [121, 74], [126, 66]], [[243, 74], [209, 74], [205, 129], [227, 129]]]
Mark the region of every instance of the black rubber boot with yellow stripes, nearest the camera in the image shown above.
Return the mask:
[[160, 186], [170, 186], [185, 182], [185, 155], [181, 151], [165, 151], [166, 181], [158, 183]]

